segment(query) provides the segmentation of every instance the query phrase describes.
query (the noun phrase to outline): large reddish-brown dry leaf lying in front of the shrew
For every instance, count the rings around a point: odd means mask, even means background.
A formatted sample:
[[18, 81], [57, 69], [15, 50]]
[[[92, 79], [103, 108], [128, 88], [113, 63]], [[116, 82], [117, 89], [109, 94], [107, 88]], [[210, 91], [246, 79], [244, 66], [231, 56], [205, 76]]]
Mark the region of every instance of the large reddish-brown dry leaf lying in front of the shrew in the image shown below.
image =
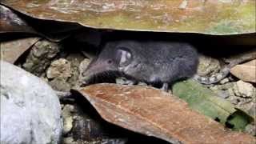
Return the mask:
[[256, 142], [248, 134], [225, 130], [218, 122], [190, 110], [186, 102], [162, 90], [96, 84], [79, 91], [106, 121], [168, 142]]

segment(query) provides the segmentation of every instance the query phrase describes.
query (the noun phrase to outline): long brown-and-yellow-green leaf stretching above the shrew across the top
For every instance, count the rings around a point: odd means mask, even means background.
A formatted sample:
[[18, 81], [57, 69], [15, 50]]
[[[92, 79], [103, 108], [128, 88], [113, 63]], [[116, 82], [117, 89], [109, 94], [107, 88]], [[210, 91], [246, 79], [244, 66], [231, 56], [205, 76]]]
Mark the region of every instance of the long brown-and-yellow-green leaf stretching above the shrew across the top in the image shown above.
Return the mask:
[[255, 0], [2, 0], [34, 18], [116, 30], [249, 34]]

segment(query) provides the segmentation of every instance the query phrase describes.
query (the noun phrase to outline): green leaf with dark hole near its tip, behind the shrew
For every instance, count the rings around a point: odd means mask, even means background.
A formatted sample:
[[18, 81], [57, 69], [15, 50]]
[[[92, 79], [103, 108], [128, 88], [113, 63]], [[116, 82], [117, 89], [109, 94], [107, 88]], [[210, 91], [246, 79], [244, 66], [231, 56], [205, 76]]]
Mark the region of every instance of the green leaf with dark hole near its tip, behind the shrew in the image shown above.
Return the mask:
[[173, 86], [173, 94], [185, 100], [191, 109], [209, 116], [234, 130], [244, 130], [253, 121], [248, 114], [238, 110], [230, 102], [219, 98], [216, 94], [194, 80], [177, 82]]

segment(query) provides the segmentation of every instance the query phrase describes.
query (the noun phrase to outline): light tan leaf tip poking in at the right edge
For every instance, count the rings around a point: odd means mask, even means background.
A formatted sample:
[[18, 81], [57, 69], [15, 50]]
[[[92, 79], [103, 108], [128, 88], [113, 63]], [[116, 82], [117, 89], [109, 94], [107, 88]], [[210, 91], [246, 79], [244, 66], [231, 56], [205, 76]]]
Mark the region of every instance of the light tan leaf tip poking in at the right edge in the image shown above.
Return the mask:
[[234, 66], [230, 72], [242, 81], [256, 83], [256, 59]]

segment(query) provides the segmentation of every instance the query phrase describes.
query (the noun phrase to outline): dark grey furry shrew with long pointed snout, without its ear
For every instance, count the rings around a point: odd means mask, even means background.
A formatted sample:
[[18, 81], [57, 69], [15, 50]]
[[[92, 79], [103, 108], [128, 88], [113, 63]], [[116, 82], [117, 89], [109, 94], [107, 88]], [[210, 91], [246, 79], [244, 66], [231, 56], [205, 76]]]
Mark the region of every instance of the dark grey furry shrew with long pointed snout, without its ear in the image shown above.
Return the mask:
[[[117, 51], [120, 49], [131, 55], [127, 66], [119, 66]], [[106, 43], [83, 75], [89, 81], [94, 75], [117, 71], [138, 81], [170, 83], [194, 76], [197, 67], [198, 53], [188, 43], [124, 40]]]

